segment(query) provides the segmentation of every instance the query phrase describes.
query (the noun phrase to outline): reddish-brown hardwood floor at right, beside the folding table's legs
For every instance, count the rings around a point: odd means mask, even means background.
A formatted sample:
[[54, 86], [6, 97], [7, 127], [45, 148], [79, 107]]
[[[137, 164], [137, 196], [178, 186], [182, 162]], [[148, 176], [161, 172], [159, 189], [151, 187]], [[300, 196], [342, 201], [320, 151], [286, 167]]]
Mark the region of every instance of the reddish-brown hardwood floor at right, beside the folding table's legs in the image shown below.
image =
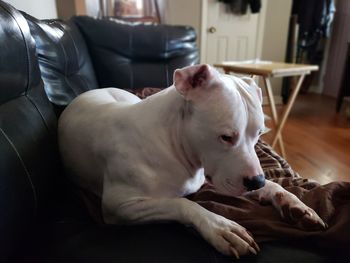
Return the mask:
[[[270, 135], [263, 139], [269, 142]], [[350, 120], [344, 112], [335, 113], [335, 99], [299, 95], [283, 130], [283, 139], [286, 159], [302, 177], [322, 184], [335, 180], [350, 182]]]

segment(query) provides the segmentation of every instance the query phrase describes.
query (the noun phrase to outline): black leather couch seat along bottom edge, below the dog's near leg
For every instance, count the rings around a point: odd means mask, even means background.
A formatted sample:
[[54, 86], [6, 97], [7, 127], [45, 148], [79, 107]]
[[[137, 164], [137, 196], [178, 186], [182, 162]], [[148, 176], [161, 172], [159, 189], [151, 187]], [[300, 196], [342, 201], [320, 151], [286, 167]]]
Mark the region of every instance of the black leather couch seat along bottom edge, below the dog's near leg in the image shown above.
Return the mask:
[[[71, 227], [76, 229], [79, 227]], [[67, 229], [67, 226], [64, 226]], [[258, 256], [238, 262], [328, 262], [327, 255], [310, 248], [274, 241], [260, 243]], [[45, 262], [233, 262], [217, 252], [193, 229], [177, 223], [139, 226], [80, 226], [48, 250]], [[336, 259], [336, 258], [332, 258]]]

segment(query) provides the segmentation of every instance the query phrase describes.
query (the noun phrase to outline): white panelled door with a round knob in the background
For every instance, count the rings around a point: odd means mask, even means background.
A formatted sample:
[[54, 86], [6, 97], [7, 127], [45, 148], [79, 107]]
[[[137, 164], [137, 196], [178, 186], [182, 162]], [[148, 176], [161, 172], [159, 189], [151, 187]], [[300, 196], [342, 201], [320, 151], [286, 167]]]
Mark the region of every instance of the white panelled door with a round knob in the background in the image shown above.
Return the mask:
[[[227, 60], [255, 59], [258, 50], [259, 14], [235, 15], [218, 0], [207, 0], [205, 59], [214, 64]], [[249, 9], [249, 7], [248, 7]], [[203, 51], [203, 49], [202, 49]]]

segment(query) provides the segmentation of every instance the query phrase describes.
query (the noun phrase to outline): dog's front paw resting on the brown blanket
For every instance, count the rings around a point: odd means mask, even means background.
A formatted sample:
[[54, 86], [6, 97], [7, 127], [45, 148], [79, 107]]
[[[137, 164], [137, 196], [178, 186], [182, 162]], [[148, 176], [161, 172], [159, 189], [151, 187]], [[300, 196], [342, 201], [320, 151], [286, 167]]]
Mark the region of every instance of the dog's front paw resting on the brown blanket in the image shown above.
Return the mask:
[[274, 205], [279, 209], [282, 218], [302, 229], [326, 229], [327, 224], [318, 214], [306, 206], [295, 195], [289, 192], [277, 192], [274, 196]]

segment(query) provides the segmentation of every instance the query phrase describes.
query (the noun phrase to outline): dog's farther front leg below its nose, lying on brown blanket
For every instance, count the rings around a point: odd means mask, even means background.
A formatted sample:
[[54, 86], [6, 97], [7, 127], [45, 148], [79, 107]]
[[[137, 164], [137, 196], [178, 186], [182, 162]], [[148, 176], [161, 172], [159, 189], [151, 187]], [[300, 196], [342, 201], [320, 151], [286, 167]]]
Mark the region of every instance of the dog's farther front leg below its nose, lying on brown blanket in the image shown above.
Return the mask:
[[326, 224], [313, 209], [279, 184], [266, 180], [263, 188], [249, 192], [246, 196], [257, 199], [260, 203], [272, 203], [282, 218], [302, 228], [326, 228]]

